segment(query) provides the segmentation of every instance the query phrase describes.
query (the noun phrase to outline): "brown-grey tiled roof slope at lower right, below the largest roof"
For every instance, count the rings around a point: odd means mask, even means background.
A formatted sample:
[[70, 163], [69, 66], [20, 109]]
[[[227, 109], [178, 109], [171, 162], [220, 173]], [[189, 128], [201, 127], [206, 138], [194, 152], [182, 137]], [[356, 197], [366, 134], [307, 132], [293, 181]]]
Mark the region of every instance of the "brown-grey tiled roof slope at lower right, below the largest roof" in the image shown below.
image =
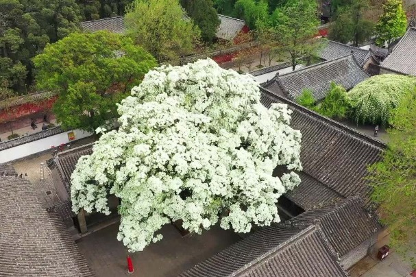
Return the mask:
[[344, 256], [369, 239], [382, 226], [363, 209], [360, 197], [348, 197], [337, 204], [308, 210], [290, 220], [296, 226], [318, 224], [335, 252]]

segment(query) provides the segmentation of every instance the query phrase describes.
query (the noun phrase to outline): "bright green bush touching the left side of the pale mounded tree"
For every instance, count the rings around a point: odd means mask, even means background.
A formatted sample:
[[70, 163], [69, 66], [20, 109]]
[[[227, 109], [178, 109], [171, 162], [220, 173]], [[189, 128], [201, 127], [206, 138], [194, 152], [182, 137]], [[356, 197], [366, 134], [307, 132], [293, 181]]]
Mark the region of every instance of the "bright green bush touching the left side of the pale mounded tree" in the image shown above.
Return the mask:
[[332, 82], [328, 95], [315, 110], [330, 118], [343, 119], [347, 117], [350, 111], [350, 100], [347, 91], [342, 86]]

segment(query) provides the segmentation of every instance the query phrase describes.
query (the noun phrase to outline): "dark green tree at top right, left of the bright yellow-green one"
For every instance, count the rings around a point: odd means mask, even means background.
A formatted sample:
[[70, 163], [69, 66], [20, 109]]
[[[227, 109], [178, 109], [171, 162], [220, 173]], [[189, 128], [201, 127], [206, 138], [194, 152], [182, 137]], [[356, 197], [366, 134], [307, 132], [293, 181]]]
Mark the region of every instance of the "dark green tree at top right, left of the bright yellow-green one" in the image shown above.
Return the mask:
[[368, 40], [373, 34], [374, 23], [367, 19], [370, 9], [368, 0], [352, 0], [351, 5], [339, 8], [334, 24], [328, 34], [331, 40], [340, 43], [352, 41], [354, 46]]

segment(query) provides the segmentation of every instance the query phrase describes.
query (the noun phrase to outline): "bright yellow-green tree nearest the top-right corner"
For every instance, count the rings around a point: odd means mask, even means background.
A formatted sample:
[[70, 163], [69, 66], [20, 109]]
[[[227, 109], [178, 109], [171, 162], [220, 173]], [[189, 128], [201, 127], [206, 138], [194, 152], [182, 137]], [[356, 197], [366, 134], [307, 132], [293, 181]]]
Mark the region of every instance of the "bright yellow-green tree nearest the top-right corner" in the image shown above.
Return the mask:
[[407, 19], [402, 0], [388, 0], [383, 5], [383, 13], [376, 25], [376, 44], [392, 43], [406, 33]]

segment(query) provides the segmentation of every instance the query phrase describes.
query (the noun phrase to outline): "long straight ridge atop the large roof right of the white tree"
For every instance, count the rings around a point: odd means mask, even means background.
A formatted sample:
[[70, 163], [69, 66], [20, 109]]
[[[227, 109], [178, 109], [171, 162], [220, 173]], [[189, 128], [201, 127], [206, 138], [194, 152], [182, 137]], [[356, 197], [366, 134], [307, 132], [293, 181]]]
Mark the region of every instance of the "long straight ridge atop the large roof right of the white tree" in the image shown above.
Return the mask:
[[328, 125], [332, 126], [332, 128], [337, 128], [343, 132], [347, 132], [351, 136], [354, 136], [357, 139], [360, 139], [361, 141], [364, 141], [365, 143], [368, 143], [374, 147], [378, 147], [380, 149], [385, 149], [387, 147], [385, 143], [382, 143], [381, 141], [377, 141], [376, 139], [371, 138], [371, 136], [367, 136], [366, 134], [360, 133], [357, 130], [354, 130], [346, 125], [343, 125], [342, 123], [339, 123], [338, 121], [334, 121], [333, 119], [324, 117], [323, 115], [319, 115], [319, 113], [314, 112], [313, 110], [309, 110], [308, 108], [305, 108], [304, 106], [301, 106], [295, 103], [295, 101], [292, 101], [291, 99], [287, 99], [280, 95], [277, 95], [273, 93], [272, 91], [269, 91], [269, 89], [267, 88], [260, 87], [260, 91], [262, 91], [262, 93], [265, 93], [269, 97], [278, 99], [278, 101], [282, 102], [283, 104], [289, 105], [289, 108], [295, 108], [299, 110], [300, 112], [304, 112], [319, 121], [323, 121], [324, 123], [327, 123]]

